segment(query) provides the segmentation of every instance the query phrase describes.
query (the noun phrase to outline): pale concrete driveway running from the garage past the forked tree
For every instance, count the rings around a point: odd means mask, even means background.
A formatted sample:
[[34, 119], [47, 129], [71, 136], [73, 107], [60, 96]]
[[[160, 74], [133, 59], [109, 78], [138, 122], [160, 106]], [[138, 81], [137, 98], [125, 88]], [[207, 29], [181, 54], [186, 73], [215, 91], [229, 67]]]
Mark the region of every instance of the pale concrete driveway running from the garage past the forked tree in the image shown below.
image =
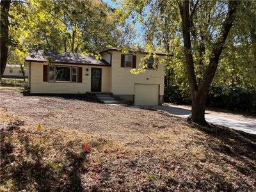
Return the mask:
[[[181, 116], [184, 118], [188, 117], [190, 114], [190, 110], [179, 108], [178, 106], [152, 106], [150, 108], [166, 111], [172, 115]], [[232, 118], [221, 117], [207, 113], [205, 114], [205, 119], [207, 120], [207, 122], [211, 122], [212, 124], [225, 125], [227, 127], [230, 127], [231, 129], [256, 134], [256, 124], [253, 124], [251, 122], [244, 122], [241, 120], [235, 120]]]

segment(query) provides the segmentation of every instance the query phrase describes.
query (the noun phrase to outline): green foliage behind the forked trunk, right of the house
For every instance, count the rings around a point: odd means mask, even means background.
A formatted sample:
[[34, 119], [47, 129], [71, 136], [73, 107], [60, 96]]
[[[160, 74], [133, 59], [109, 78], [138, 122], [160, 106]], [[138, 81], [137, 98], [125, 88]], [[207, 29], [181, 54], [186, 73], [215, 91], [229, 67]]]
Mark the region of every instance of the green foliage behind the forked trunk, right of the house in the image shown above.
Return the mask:
[[[184, 58], [182, 26], [179, 5], [182, 1], [122, 1], [118, 11], [120, 21], [136, 20], [145, 30], [145, 47], [148, 50], [166, 52], [165, 60], [165, 101], [188, 104], [189, 84], [186, 60]], [[205, 70], [212, 58], [212, 48], [221, 36], [223, 20], [227, 15], [228, 1], [190, 1], [189, 22], [198, 86], [202, 83]], [[242, 109], [241, 98], [251, 100], [253, 106], [256, 88], [256, 3], [243, 1], [237, 8], [236, 19], [228, 34], [209, 93], [211, 106], [227, 109]], [[256, 36], [255, 36], [256, 37]], [[256, 40], [256, 38], [254, 38]], [[141, 65], [143, 69], [143, 65]], [[141, 69], [141, 71], [143, 71]], [[225, 89], [227, 88], [227, 89]], [[234, 91], [235, 90], [235, 91]], [[247, 90], [246, 95], [241, 90]], [[218, 96], [216, 96], [218, 95]], [[229, 97], [225, 97], [228, 95]], [[223, 97], [225, 99], [220, 99]], [[216, 99], [218, 98], [218, 99]], [[234, 100], [237, 98], [237, 100]], [[232, 104], [234, 102], [234, 104]]]

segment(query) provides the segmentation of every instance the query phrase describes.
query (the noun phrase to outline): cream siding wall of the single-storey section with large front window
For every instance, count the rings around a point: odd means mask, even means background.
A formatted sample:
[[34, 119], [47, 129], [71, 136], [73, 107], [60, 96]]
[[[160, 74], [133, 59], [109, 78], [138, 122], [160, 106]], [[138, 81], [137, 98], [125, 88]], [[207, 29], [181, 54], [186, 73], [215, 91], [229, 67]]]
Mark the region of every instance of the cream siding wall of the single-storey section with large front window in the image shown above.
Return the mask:
[[[64, 65], [83, 67], [82, 83], [58, 83], [43, 81], [43, 65], [44, 63], [31, 62], [31, 93], [86, 93], [91, 91], [91, 71], [92, 68], [102, 68], [102, 92], [110, 92], [109, 86], [109, 70], [110, 67], [90, 66], [90, 65]], [[88, 71], [86, 71], [88, 68]], [[86, 76], [88, 74], [88, 76]]]

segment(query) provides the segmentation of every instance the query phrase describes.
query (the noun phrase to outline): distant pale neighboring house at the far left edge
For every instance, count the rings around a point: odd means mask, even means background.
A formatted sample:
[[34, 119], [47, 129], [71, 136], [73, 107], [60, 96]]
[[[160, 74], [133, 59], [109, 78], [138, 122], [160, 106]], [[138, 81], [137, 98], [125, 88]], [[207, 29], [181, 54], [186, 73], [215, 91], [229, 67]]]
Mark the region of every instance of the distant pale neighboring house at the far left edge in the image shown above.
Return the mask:
[[[6, 78], [23, 78], [18, 64], [6, 64], [3, 77]], [[25, 77], [28, 77], [28, 72], [25, 70]]]

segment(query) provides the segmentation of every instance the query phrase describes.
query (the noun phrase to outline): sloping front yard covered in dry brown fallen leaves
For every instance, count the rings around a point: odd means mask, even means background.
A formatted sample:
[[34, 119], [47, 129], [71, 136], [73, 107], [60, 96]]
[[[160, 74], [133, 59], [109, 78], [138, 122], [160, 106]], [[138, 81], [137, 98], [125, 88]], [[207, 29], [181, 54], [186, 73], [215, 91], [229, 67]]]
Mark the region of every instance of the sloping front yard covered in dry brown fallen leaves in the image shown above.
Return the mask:
[[87, 97], [20, 91], [0, 89], [1, 191], [256, 190], [256, 136]]

